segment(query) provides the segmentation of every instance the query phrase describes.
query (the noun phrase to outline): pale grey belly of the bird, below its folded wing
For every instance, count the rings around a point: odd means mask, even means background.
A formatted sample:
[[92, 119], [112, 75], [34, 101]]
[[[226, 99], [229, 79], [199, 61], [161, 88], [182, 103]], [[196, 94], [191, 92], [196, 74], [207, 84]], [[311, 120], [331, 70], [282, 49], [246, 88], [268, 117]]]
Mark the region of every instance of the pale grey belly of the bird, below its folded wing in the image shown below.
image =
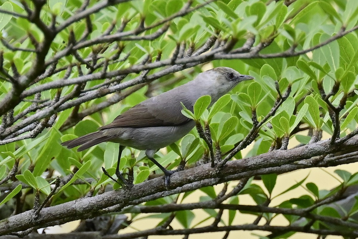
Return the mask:
[[116, 128], [111, 131], [118, 131], [118, 137], [110, 141], [140, 150], [160, 149], [183, 138], [194, 126], [191, 121], [180, 126]]

